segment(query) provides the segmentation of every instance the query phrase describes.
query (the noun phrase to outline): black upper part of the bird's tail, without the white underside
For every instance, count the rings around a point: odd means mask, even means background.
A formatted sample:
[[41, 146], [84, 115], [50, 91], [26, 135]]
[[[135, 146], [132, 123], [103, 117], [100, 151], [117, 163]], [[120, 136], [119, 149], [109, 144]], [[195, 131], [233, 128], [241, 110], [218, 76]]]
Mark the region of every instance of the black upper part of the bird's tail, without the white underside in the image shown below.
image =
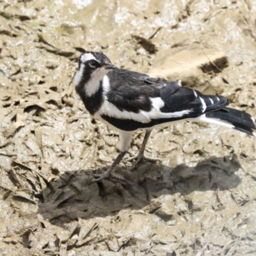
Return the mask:
[[208, 112], [205, 114], [205, 116], [226, 121], [234, 125], [234, 129], [250, 135], [254, 135], [253, 129], [256, 129], [252, 116], [244, 111], [240, 111], [237, 109], [220, 109], [217, 111]]

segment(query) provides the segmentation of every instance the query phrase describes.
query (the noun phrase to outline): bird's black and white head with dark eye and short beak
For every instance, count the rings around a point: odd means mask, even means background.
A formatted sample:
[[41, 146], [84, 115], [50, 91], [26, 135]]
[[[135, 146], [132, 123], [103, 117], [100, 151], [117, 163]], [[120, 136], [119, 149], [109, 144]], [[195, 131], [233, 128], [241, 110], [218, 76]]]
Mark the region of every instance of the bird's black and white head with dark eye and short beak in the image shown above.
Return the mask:
[[76, 86], [86, 84], [92, 77], [103, 78], [111, 69], [116, 68], [103, 52], [84, 52], [78, 60], [78, 70], [74, 77]]

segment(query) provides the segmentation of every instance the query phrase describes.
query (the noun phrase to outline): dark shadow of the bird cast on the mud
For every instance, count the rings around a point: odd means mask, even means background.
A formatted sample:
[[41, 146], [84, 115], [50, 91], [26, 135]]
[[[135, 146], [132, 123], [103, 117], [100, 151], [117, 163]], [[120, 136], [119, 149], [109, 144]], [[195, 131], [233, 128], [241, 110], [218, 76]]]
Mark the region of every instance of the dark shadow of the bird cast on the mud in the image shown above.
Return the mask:
[[39, 212], [52, 224], [61, 226], [79, 218], [113, 216], [122, 209], [147, 207], [150, 200], [161, 195], [236, 188], [240, 179], [235, 172], [239, 168], [234, 155], [231, 159], [211, 156], [195, 167], [180, 164], [170, 168], [149, 162], [134, 172], [118, 167], [116, 173], [128, 182], [114, 178], [92, 182], [93, 170], [66, 172], [44, 189]]

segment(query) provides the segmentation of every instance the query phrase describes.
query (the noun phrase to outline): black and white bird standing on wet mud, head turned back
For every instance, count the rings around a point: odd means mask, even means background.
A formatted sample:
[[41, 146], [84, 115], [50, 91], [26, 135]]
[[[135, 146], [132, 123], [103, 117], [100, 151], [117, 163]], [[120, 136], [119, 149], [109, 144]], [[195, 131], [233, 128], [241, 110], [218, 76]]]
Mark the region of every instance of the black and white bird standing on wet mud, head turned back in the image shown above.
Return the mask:
[[255, 135], [252, 116], [227, 108], [225, 97], [203, 95], [177, 81], [118, 68], [102, 52], [87, 51], [80, 56], [74, 83], [90, 115], [117, 129], [120, 136], [120, 153], [106, 172], [97, 175], [97, 182], [111, 175], [128, 152], [132, 133], [138, 129], [146, 132], [137, 164], [144, 157], [152, 128], [164, 123], [191, 120]]

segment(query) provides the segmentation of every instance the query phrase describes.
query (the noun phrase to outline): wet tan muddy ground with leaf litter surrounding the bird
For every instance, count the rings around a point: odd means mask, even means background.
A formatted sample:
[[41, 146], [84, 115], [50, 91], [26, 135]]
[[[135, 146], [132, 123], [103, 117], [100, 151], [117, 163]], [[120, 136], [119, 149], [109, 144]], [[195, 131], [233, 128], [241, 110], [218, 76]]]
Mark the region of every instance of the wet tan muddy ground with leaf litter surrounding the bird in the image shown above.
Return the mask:
[[253, 0], [0, 0], [0, 255], [256, 255], [255, 138], [164, 127], [161, 162], [91, 183], [118, 136], [72, 83], [83, 49], [104, 51], [256, 117], [255, 17]]

